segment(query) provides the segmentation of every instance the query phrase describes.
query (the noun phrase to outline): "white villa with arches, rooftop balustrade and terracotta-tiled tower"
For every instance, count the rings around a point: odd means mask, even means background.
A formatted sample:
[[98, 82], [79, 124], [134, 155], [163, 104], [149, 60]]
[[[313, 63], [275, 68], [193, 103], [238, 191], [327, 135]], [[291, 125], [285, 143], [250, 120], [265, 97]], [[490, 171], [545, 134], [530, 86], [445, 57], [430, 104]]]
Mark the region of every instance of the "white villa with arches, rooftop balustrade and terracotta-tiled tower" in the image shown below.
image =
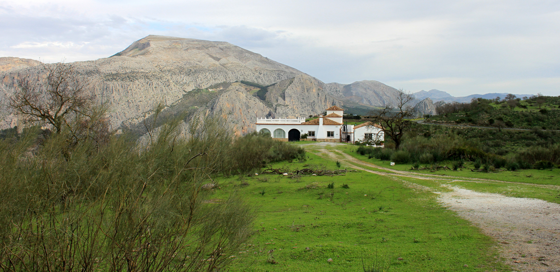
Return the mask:
[[258, 119], [256, 130], [286, 142], [300, 140], [301, 135], [307, 133], [307, 140], [353, 143], [354, 125], [342, 123], [343, 112], [340, 107], [332, 106], [326, 109], [325, 116], [307, 122], [305, 119]]

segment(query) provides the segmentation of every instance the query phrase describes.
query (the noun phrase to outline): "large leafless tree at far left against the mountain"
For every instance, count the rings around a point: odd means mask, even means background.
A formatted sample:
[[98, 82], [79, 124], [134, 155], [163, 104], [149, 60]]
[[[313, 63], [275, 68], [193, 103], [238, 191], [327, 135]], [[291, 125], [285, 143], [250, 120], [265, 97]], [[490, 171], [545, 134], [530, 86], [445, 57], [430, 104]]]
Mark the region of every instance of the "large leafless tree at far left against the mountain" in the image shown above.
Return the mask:
[[24, 116], [24, 123], [42, 121], [60, 133], [64, 126], [71, 125], [71, 119], [95, 115], [95, 96], [74, 65], [61, 62], [43, 65], [43, 69], [46, 78], [22, 78], [10, 98], [11, 109]]

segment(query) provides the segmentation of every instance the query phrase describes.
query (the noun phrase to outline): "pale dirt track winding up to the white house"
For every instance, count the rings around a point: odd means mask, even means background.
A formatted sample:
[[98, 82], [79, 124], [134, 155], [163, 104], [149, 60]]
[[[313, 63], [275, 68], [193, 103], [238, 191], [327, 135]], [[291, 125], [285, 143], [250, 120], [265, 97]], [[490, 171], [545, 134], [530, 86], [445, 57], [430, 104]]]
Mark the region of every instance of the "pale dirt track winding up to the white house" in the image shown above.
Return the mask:
[[[325, 149], [325, 146], [336, 147], [334, 143], [305, 144], [309, 149], [319, 151], [325, 156], [346, 162], [349, 167], [363, 171], [389, 176], [402, 181], [415, 189], [429, 190], [440, 196], [437, 198], [442, 205], [457, 212], [461, 217], [478, 226], [483, 233], [496, 239], [501, 245], [501, 255], [506, 263], [517, 271], [560, 271], [560, 205], [540, 199], [513, 198], [500, 194], [478, 193], [461, 187], [450, 186], [449, 181], [461, 180], [469, 182], [488, 181], [457, 177], [442, 177], [428, 173], [395, 171], [372, 163], [360, 161], [348, 154]], [[369, 166], [393, 171], [386, 173], [368, 170], [360, 166]], [[449, 193], [441, 193], [438, 188], [430, 188], [400, 177], [429, 179], [441, 182], [441, 188], [451, 189]], [[505, 181], [496, 181], [505, 182]], [[509, 182], [516, 184], [517, 182]], [[526, 184], [524, 184], [526, 185]], [[543, 185], [535, 185], [543, 186]], [[559, 186], [544, 185], [558, 188]], [[543, 187], [544, 187], [543, 186]], [[446, 190], [447, 191], [447, 190]]]

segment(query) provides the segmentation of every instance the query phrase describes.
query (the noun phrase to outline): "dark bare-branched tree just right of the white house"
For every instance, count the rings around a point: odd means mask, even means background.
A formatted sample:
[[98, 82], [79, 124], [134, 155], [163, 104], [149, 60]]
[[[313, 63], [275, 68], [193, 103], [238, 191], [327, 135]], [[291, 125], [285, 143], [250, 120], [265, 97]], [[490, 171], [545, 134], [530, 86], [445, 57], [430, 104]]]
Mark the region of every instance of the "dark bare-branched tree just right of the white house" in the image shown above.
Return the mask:
[[389, 137], [395, 142], [395, 149], [399, 149], [405, 131], [412, 125], [410, 119], [413, 118], [414, 113], [410, 102], [413, 100], [414, 96], [401, 89], [396, 96], [396, 105], [389, 103], [383, 109], [370, 113], [373, 123], [370, 126], [380, 124], [381, 132], [385, 134], [385, 137]]

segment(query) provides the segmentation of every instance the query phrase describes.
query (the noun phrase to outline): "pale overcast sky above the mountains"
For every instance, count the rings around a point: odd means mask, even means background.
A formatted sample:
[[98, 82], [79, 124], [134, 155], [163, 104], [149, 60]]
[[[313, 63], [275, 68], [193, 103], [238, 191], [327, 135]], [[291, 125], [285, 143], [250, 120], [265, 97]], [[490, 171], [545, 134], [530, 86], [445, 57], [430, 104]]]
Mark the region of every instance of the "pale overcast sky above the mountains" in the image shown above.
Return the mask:
[[0, 57], [113, 55], [144, 36], [227, 41], [323, 82], [560, 95], [560, 1], [0, 1]]

